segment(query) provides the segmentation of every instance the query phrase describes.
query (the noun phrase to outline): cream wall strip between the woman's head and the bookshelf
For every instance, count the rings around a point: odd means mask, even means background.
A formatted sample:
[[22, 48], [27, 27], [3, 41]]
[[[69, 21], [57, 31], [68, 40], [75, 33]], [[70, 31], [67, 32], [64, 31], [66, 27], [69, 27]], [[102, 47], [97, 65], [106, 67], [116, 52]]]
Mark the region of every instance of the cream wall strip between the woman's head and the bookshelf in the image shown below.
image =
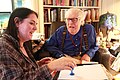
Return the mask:
[[[24, 7], [28, 7], [32, 10], [34, 10], [35, 12], [38, 13], [38, 25], [37, 25], [37, 31], [36, 32], [40, 32], [40, 33], [44, 33], [44, 23], [43, 23], [43, 8], [41, 5], [43, 5], [43, 0], [23, 0]], [[32, 6], [31, 6], [32, 5]], [[42, 20], [41, 20], [42, 19]]]

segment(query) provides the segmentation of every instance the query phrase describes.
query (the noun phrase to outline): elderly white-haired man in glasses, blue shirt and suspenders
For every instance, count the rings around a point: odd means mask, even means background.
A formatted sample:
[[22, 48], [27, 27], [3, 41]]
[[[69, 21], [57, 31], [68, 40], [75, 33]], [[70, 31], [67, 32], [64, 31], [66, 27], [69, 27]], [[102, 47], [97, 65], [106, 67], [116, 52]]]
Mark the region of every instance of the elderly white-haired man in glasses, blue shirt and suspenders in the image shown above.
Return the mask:
[[71, 56], [88, 62], [94, 57], [98, 50], [96, 32], [91, 24], [84, 24], [86, 14], [78, 8], [68, 9], [66, 26], [58, 28], [45, 43], [53, 57]]

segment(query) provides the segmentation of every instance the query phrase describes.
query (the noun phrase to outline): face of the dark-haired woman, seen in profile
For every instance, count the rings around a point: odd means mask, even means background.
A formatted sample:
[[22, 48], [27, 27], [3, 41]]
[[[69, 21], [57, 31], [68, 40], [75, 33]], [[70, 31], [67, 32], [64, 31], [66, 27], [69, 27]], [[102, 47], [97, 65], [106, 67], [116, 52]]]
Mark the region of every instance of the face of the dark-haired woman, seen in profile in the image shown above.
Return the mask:
[[18, 24], [18, 37], [20, 41], [25, 42], [32, 39], [33, 33], [37, 30], [37, 16], [30, 14]]

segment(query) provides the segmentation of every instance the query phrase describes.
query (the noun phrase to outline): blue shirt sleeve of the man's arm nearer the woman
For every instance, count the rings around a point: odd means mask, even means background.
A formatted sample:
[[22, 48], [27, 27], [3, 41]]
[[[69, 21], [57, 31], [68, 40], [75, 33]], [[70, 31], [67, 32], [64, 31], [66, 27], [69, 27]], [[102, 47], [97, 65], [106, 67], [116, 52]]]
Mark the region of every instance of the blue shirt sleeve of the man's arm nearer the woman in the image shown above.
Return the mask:
[[59, 28], [53, 35], [45, 42], [45, 48], [48, 50], [52, 57], [54, 58], [60, 58], [64, 56], [64, 53], [62, 52], [61, 48], [61, 42], [62, 42], [62, 31], [63, 29]]

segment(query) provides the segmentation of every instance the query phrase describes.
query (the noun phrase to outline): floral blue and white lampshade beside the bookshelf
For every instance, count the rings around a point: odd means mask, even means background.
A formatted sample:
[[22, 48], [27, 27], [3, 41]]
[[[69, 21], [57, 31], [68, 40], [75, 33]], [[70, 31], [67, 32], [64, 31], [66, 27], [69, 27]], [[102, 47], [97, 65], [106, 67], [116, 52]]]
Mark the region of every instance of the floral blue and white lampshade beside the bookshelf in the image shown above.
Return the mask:
[[103, 37], [108, 36], [109, 31], [113, 30], [117, 26], [116, 15], [112, 13], [105, 13], [100, 16], [99, 19], [99, 28], [103, 33]]

